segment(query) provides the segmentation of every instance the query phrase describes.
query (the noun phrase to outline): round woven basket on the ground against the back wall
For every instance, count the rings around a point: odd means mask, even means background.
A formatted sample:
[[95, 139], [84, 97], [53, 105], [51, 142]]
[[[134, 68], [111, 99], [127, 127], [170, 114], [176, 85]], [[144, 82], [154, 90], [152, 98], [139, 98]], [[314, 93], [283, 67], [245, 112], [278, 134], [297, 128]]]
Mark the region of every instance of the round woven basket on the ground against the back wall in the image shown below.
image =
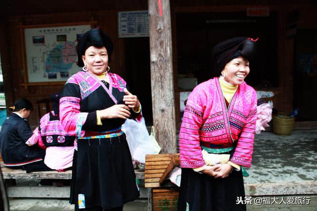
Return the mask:
[[285, 114], [285, 116], [279, 116], [280, 114], [284, 113], [278, 113], [273, 116], [273, 133], [277, 135], [290, 135], [294, 127], [295, 118], [286, 116]]

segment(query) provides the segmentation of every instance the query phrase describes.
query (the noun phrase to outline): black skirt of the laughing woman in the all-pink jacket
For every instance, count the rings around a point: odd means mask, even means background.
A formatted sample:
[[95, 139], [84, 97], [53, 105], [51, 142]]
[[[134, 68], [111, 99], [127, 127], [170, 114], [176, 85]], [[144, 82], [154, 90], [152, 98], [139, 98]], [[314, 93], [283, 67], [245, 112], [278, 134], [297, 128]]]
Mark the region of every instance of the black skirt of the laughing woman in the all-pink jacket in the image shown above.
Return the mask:
[[246, 211], [237, 197], [245, 197], [241, 170], [222, 179], [182, 169], [178, 211], [186, 211], [186, 205], [189, 211]]

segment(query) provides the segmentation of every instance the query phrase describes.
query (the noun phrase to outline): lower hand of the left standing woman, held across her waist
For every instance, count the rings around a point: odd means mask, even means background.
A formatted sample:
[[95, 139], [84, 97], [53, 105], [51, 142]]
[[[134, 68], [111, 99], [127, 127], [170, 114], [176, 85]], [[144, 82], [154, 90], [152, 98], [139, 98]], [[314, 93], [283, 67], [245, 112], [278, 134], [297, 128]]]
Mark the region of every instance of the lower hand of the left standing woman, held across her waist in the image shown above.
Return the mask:
[[116, 104], [109, 108], [99, 111], [100, 118], [103, 119], [114, 119], [121, 118], [126, 120], [130, 117], [131, 113], [129, 107], [123, 104]]

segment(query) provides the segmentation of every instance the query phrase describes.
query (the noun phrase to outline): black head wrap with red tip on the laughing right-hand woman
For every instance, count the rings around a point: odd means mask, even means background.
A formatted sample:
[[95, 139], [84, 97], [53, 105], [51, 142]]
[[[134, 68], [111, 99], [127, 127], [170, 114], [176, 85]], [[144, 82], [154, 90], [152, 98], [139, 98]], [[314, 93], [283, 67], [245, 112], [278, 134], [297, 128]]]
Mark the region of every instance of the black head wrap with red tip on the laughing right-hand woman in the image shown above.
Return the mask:
[[212, 49], [214, 75], [218, 77], [226, 64], [239, 56], [251, 61], [256, 52], [258, 39], [237, 37], [216, 44]]

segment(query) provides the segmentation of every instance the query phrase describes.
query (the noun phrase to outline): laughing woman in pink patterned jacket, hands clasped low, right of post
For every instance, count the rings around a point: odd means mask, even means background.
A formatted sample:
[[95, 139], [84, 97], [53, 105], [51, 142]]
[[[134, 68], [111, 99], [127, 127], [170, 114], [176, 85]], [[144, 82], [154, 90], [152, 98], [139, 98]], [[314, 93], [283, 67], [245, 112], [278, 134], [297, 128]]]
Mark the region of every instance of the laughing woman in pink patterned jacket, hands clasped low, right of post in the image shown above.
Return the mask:
[[245, 197], [242, 170], [252, 163], [257, 94], [244, 80], [256, 41], [239, 37], [215, 45], [216, 77], [188, 97], [179, 133], [179, 211], [246, 210], [236, 202]]

